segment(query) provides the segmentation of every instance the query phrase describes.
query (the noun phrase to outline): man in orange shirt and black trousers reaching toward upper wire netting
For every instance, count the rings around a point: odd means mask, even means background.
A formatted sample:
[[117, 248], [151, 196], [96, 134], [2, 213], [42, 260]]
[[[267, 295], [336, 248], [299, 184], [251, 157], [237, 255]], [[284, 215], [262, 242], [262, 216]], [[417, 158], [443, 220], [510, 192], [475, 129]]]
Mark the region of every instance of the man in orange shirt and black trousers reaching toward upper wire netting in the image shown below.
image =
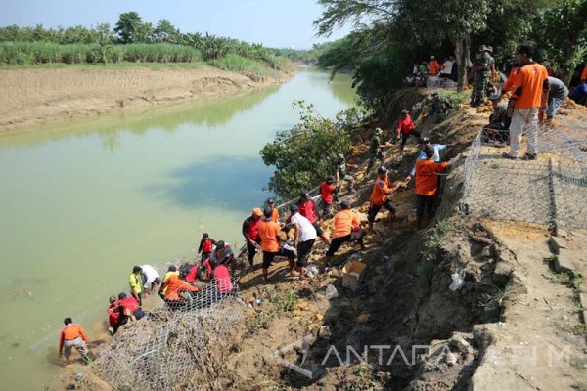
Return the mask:
[[434, 161], [434, 147], [427, 145], [424, 148], [426, 159], [416, 162], [416, 215], [417, 228], [421, 228], [424, 208], [430, 219], [434, 217], [434, 196], [438, 190], [438, 172], [447, 167], [447, 163]]

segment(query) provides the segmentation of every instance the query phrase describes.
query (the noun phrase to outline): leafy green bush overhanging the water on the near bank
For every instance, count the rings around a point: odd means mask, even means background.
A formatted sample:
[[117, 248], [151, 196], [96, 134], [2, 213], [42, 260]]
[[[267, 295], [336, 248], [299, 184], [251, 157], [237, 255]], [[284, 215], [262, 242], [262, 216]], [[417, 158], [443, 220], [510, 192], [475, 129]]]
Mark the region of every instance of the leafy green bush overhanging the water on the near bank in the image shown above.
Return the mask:
[[348, 150], [353, 133], [365, 118], [357, 108], [341, 111], [335, 120], [329, 120], [303, 100], [293, 106], [301, 110], [300, 123], [278, 132], [275, 140], [261, 149], [263, 162], [275, 167], [268, 189], [282, 199], [294, 198], [302, 189], [311, 189], [332, 175], [336, 155]]

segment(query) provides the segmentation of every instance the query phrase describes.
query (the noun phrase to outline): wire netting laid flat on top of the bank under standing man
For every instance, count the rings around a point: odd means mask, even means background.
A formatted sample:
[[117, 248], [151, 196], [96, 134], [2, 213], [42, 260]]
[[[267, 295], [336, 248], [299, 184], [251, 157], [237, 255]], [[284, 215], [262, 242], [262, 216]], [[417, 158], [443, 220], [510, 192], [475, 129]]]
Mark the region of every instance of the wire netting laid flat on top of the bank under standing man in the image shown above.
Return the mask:
[[[484, 128], [464, 164], [461, 212], [503, 222], [587, 228], [587, 123], [556, 117], [538, 126], [537, 158], [510, 160], [509, 132]], [[527, 151], [524, 136], [520, 156]]]

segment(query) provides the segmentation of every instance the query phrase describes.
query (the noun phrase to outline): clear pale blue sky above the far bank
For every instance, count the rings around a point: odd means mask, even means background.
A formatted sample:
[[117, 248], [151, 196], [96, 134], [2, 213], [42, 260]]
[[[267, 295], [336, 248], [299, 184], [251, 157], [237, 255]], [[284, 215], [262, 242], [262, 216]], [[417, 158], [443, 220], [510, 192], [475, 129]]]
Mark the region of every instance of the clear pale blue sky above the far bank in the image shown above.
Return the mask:
[[330, 38], [316, 38], [312, 21], [322, 9], [315, 0], [5, 0], [0, 26], [49, 28], [108, 22], [122, 12], [136, 11], [153, 25], [169, 19], [182, 32], [209, 32], [271, 47], [309, 49], [313, 43], [342, 38], [347, 28]]

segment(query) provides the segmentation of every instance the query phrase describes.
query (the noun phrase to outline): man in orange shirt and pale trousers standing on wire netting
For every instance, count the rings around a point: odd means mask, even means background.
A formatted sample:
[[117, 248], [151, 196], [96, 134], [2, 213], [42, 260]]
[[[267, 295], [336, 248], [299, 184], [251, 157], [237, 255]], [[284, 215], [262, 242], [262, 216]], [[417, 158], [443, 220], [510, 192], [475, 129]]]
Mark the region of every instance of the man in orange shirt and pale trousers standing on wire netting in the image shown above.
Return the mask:
[[550, 82], [546, 68], [532, 60], [534, 47], [519, 45], [516, 60], [520, 64], [518, 76], [512, 86], [512, 120], [510, 124], [510, 152], [502, 154], [506, 159], [517, 159], [522, 132], [528, 135], [528, 148], [525, 158], [536, 159], [538, 138], [538, 114], [546, 110]]

